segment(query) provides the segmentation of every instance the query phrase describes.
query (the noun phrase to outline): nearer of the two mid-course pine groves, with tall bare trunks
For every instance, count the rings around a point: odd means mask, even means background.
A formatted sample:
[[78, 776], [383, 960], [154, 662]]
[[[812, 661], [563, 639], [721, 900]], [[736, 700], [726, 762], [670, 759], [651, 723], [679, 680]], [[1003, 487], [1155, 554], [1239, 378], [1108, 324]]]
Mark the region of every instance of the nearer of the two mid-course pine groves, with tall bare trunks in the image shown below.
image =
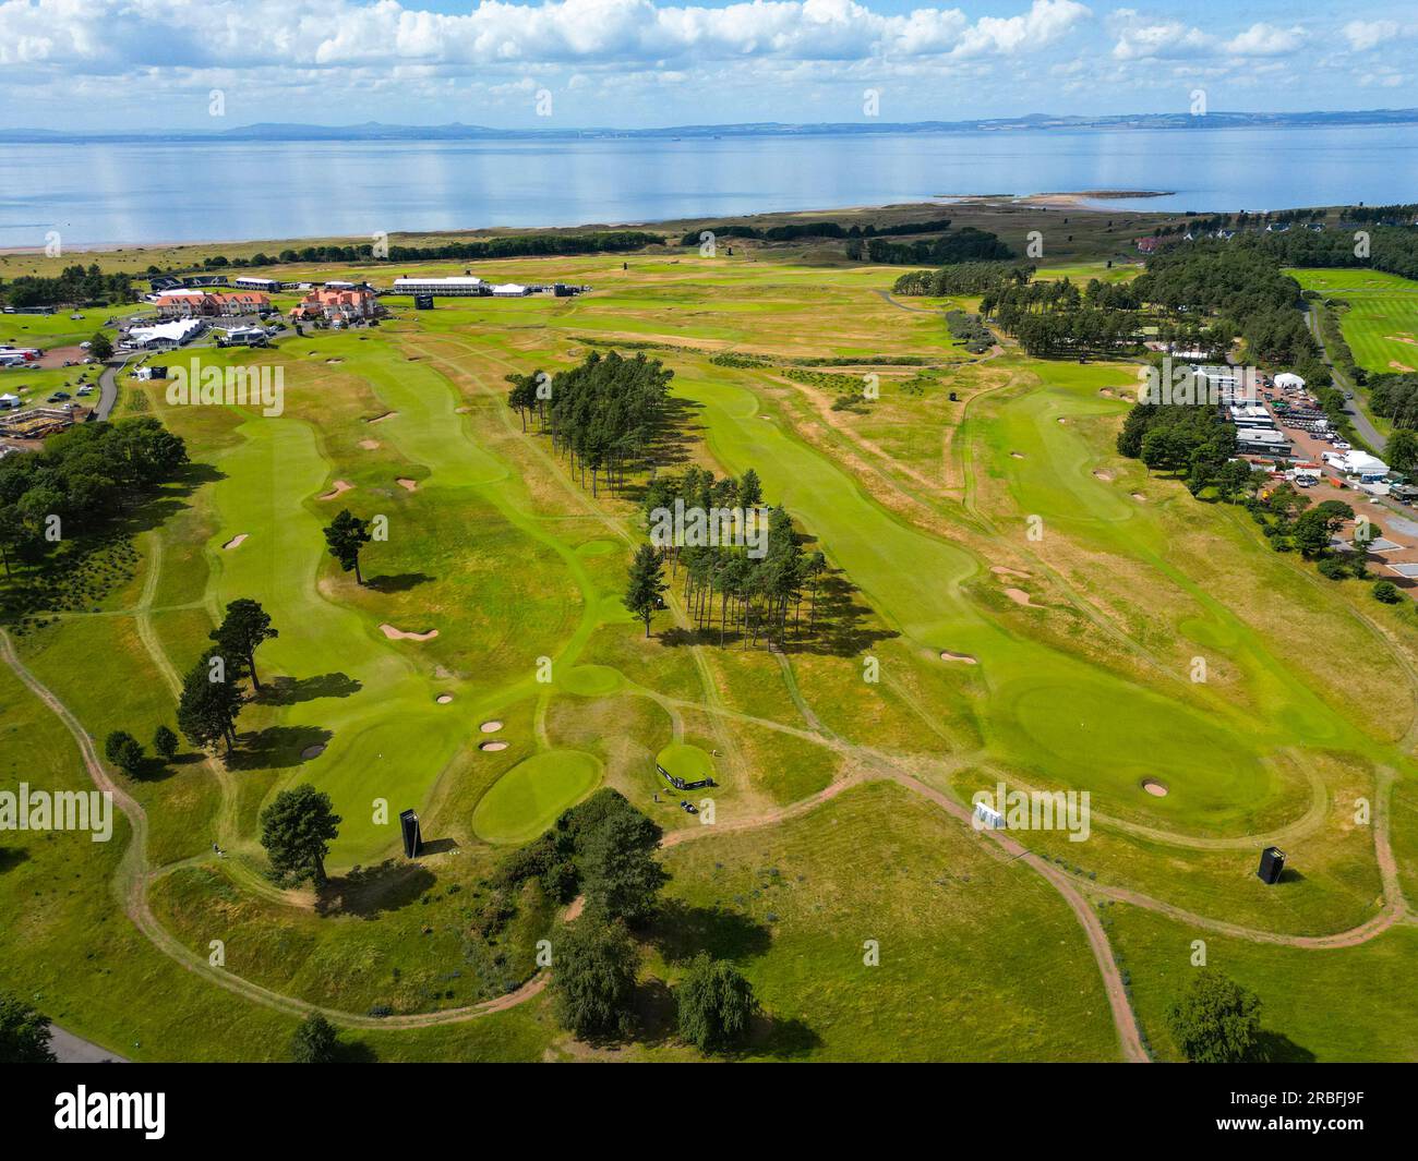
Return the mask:
[[[713, 472], [700, 468], [657, 476], [647, 486], [642, 500], [651, 526], [657, 513], [675, 510], [676, 500], [686, 510], [696, 509], [715, 519], [716, 513], [736, 509], [761, 509], [763, 486], [752, 468], [739, 479], [715, 479]], [[793, 635], [800, 636], [804, 631], [804, 598], [808, 600], [807, 632], [817, 628], [817, 597], [827, 574], [827, 559], [820, 551], [803, 550], [801, 537], [787, 512], [781, 507], [769, 510], [766, 540], [760, 542], [761, 556], [746, 544], [723, 543], [725, 537], [719, 542], [644, 546], [637, 553], [625, 604], [642, 617], [647, 631], [655, 598], [664, 588], [659, 577], [665, 563], [672, 581], [682, 585], [681, 597], [695, 628], [700, 634], [712, 634], [718, 619], [720, 645], [736, 634], [743, 648], [757, 645], [760, 636], [784, 648], [790, 612]], [[658, 590], [655, 583], [659, 583]]]

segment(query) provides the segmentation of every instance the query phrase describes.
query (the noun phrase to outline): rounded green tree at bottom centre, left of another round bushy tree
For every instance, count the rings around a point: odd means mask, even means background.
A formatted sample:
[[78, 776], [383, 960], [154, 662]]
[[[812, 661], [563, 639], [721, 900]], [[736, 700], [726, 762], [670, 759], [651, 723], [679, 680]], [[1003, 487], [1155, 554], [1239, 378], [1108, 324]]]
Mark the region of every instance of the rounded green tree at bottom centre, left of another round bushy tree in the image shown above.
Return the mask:
[[552, 951], [557, 1022], [581, 1039], [627, 1035], [638, 971], [625, 927], [583, 914], [563, 929]]

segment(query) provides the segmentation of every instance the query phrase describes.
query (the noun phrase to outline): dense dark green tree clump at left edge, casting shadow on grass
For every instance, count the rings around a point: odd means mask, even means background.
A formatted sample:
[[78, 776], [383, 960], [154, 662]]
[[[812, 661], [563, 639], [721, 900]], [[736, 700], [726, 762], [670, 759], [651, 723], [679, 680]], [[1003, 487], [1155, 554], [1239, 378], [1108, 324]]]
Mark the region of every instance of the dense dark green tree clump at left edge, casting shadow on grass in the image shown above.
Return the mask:
[[0, 459], [6, 571], [13, 559], [37, 561], [61, 540], [105, 529], [186, 462], [182, 437], [153, 418], [71, 427], [41, 451]]

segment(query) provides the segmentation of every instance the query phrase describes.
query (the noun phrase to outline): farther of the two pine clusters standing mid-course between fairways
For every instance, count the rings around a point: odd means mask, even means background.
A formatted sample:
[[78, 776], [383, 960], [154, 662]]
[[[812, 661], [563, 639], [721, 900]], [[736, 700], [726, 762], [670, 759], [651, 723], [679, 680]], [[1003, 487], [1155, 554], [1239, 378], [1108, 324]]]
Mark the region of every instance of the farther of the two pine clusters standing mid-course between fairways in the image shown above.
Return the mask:
[[552, 437], [552, 448], [570, 461], [571, 472], [591, 495], [601, 475], [611, 489], [641, 461], [661, 421], [674, 371], [644, 353], [625, 359], [617, 352], [591, 352], [584, 361], [554, 376], [536, 370], [509, 374], [508, 403], [522, 420]]

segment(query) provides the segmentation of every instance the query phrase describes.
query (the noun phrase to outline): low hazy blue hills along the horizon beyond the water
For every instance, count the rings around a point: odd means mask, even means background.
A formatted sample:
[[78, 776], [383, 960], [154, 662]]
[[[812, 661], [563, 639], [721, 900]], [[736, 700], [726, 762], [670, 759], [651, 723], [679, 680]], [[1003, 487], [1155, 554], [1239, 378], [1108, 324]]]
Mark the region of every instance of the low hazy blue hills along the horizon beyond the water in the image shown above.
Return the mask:
[[705, 139], [848, 136], [868, 133], [1008, 133], [1089, 132], [1117, 129], [1246, 129], [1329, 125], [1418, 125], [1418, 109], [1366, 109], [1358, 112], [1231, 113], [1120, 113], [1110, 116], [1054, 116], [1029, 113], [981, 120], [837, 122], [790, 125], [678, 125], [666, 129], [492, 129], [486, 125], [298, 125], [267, 122], [223, 130], [170, 130], [150, 133], [67, 133], [54, 129], [0, 129], [0, 142], [101, 143], [101, 142], [364, 142], [364, 140], [597, 140], [597, 139]]

